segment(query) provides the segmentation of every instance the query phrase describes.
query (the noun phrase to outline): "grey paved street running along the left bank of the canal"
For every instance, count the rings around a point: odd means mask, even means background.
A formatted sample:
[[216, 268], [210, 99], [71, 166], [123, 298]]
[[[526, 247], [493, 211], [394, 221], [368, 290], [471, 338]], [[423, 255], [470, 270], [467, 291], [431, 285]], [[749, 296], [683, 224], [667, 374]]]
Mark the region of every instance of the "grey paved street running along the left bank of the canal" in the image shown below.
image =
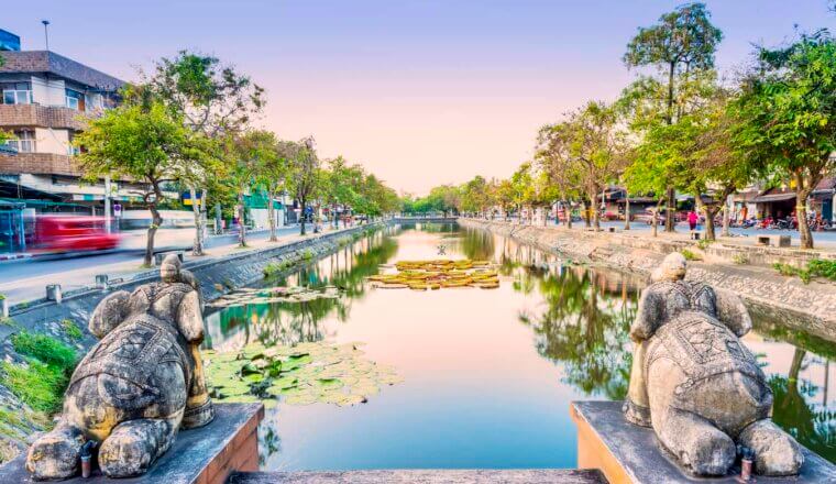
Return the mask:
[[[287, 227], [279, 229], [278, 235], [287, 237], [298, 231], [298, 227]], [[248, 240], [257, 242], [268, 237], [268, 230], [261, 230], [251, 232]], [[206, 242], [210, 254], [232, 250], [237, 244], [237, 234], [211, 237]], [[142, 256], [139, 251], [123, 251], [0, 263], [0, 294], [15, 304], [43, 297], [47, 284], [61, 284], [67, 292], [94, 284], [97, 274], [108, 274], [113, 278], [136, 272]]]

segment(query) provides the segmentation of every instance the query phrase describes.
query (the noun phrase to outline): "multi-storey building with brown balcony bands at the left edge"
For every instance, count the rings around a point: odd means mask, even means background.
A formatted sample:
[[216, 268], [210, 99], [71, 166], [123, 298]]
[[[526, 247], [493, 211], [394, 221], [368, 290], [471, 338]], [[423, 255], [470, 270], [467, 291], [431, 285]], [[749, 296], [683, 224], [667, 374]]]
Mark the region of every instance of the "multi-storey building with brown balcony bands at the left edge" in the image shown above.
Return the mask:
[[[86, 119], [119, 102], [124, 82], [54, 52], [21, 51], [2, 30], [0, 57], [0, 130], [13, 135], [0, 151], [0, 199], [37, 212], [102, 215], [105, 180], [80, 183], [73, 139]], [[125, 184], [110, 188], [111, 199], [135, 197]]]

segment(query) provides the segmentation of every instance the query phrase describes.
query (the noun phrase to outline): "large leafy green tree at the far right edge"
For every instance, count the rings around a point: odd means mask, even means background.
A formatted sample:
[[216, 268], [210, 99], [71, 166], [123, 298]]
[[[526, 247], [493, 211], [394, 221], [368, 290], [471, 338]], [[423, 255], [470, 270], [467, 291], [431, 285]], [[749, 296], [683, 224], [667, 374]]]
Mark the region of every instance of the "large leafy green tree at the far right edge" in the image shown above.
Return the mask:
[[733, 138], [759, 175], [794, 186], [801, 248], [813, 249], [806, 201], [836, 169], [836, 42], [821, 31], [758, 59], [733, 103]]

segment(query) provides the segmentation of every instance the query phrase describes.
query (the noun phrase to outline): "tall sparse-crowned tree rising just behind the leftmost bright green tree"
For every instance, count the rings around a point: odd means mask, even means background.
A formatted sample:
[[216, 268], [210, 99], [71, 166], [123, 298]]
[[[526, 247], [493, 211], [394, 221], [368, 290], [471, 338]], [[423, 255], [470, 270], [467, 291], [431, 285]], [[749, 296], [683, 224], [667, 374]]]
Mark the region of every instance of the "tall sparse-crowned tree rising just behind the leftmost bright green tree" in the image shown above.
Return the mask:
[[[217, 57], [187, 51], [160, 59], [153, 75], [143, 77], [147, 92], [138, 95], [150, 94], [183, 117], [188, 128], [211, 139], [239, 135], [265, 102], [264, 90], [234, 67], [222, 66]], [[195, 213], [195, 255], [204, 254], [207, 187], [218, 173], [207, 169], [191, 174], [187, 180]], [[202, 187], [199, 205], [195, 202], [198, 187]]]

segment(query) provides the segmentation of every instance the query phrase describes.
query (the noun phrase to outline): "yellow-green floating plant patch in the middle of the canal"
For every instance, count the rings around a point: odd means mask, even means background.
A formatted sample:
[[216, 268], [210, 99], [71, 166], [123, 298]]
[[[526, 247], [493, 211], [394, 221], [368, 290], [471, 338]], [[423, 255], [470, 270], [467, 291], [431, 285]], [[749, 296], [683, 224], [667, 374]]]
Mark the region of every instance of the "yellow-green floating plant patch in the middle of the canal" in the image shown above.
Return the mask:
[[397, 273], [370, 276], [375, 287], [386, 289], [435, 290], [452, 287], [480, 287], [496, 289], [499, 275], [488, 261], [436, 260], [400, 261], [395, 264]]

